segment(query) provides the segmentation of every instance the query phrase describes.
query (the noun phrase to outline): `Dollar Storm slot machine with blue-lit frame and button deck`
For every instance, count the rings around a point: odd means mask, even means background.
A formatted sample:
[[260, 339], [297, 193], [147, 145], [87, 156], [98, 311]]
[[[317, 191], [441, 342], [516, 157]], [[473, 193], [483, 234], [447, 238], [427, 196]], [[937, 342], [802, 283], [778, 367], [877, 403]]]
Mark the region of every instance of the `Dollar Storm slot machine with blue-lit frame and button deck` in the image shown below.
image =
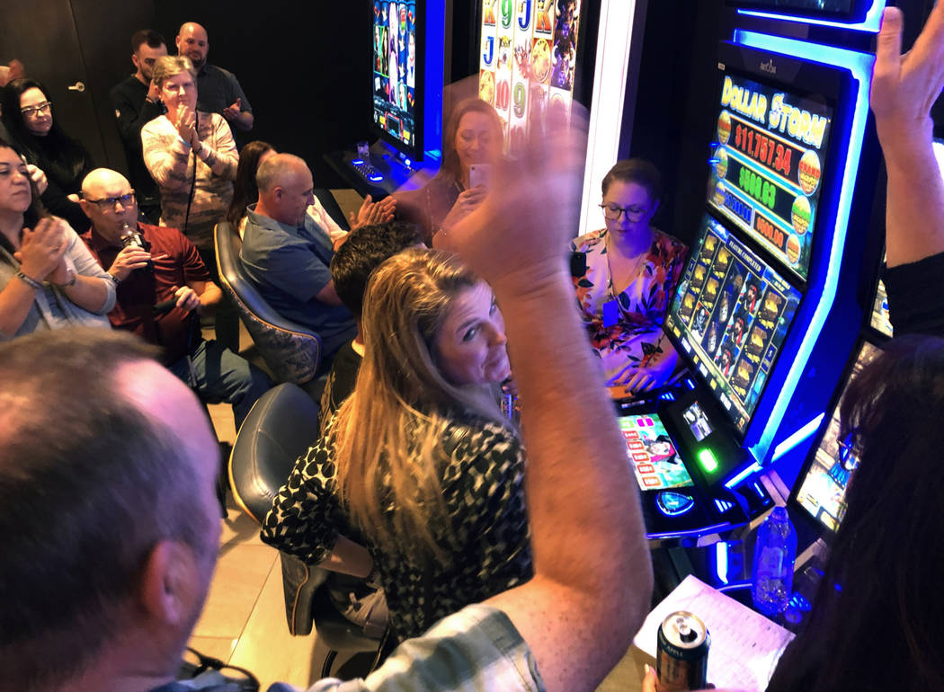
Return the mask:
[[[620, 407], [650, 538], [724, 532], [773, 506], [761, 476], [818, 430], [877, 263], [868, 40], [885, 3], [731, 4], [703, 213], [665, 324], [688, 373]], [[674, 463], [637, 444], [659, 435]]]

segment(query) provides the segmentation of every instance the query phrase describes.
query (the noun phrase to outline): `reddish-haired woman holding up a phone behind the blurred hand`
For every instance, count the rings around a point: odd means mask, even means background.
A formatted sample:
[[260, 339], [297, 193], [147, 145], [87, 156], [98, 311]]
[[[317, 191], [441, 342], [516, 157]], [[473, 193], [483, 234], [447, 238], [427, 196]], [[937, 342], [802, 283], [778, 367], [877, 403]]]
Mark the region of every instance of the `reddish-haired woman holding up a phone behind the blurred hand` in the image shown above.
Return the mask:
[[460, 101], [443, 134], [443, 165], [419, 190], [396, 193], [397, 216], [417, 224], [426, 245], [448, 247], [448, 229], [478, 207], [488, 192], [471, 180], [473, 164], [490, 167], [502, 153], [501, 121], [480, 98]]

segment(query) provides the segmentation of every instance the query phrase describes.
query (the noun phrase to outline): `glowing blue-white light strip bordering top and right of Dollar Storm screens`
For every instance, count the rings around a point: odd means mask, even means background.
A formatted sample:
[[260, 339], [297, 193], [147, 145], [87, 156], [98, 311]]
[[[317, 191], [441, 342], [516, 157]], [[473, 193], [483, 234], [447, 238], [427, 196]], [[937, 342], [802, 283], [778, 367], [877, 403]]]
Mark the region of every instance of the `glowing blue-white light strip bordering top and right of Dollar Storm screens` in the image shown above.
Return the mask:
[[[859, 170], [859, 159], [862, 155], [862, 140], [865, 137], [866, 121], [868, 119], [868, 87], [871, 82], [872, 63], [875, 61], [875, 57], [868, 53], [857, 53], [845, 48], [785, 39], [743, 29], [734, 31], [734, 42], [758, 50], [818, 62], [829, 67], [845, 68], [851, 73], [852, 79], [857, 82], [854, 104], [837, 104], [837, 109], [845, 107], [847, 113], [851, 116], [849, 117], [851, 127], [848, 132], [840, 133], [844, 134], [845, 138], [839, 142], [837, 147], [837, 151], [840, 152], [845, 149], [846, 160], [839, 186], [839, 199], [836, 203], [833, 245], [830, 249], [829, 262], [826, 263], [826, 278], [822, 284], [822, 293], [819, 295], [816, 311], [810, 320], [810, 327], [803, 335], [801, 345], [797, 349], [797, 356], [784, 380], [784, 386], [767, 418], [766, 426], [757, 442], [749, 449], [754, 459], [764, 460], [767, 450], [773, 444], [774, 434], [784, 419], [787, 404], [796, 392], [797, 384], [806, 369], [806, 363], [809, 362], [813, 346], [816, 345], [819, 334], [833, 306], [836, 286], [839, 282], [839, 263], [842, 261], [842, 253], [846, 245], [851, 191], [854, 188], [855, 177]], [[851, 110], [851, 113], [848, 112], [849, 110]], [[807, 297], [809, 297], [809, 294]], [[743, 476], [740, 477], [743, 478]], [[733, 481], [729, 481], [729, 483], [733, 483]], [[725, 483], [725, 485], [731, 487], [729, 483]]]

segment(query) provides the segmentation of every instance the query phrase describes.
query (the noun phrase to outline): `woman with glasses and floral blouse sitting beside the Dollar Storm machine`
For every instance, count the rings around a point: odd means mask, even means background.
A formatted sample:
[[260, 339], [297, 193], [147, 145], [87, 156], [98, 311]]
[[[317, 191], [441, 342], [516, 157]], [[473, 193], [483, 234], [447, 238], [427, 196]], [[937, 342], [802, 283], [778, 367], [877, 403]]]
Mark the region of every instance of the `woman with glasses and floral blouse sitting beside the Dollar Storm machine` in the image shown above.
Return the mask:
[[661, 194], [649, 161], [617, 161], [603, 178], [606, 228], [570, 245], [583, 322], [615, 398], [662, 386], [678, 362], [662, 323], [687, 248], [651, 226]]

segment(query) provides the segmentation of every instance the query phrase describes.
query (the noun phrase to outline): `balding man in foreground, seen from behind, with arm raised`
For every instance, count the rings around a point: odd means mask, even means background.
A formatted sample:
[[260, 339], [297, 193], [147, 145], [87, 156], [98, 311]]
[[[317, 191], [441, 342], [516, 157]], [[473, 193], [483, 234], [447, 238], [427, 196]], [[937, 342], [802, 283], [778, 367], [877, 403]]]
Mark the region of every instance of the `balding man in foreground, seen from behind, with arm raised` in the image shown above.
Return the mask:
[[[312, 690], [594, 689], [649, 610], [639, 490], [561, 251], [580, 209], [573, 154], [583, 150], [542, 151], [550, 160], [526, 157], [531, 169], [450, 230], [505, 315], [534, 577], [407, 640], [366, 680]], [[189, 689], [173, 678], [219, 537], [218, 456], [199, 412], [126, 335], [62, 330], [0, 346], [8, 687]]]

